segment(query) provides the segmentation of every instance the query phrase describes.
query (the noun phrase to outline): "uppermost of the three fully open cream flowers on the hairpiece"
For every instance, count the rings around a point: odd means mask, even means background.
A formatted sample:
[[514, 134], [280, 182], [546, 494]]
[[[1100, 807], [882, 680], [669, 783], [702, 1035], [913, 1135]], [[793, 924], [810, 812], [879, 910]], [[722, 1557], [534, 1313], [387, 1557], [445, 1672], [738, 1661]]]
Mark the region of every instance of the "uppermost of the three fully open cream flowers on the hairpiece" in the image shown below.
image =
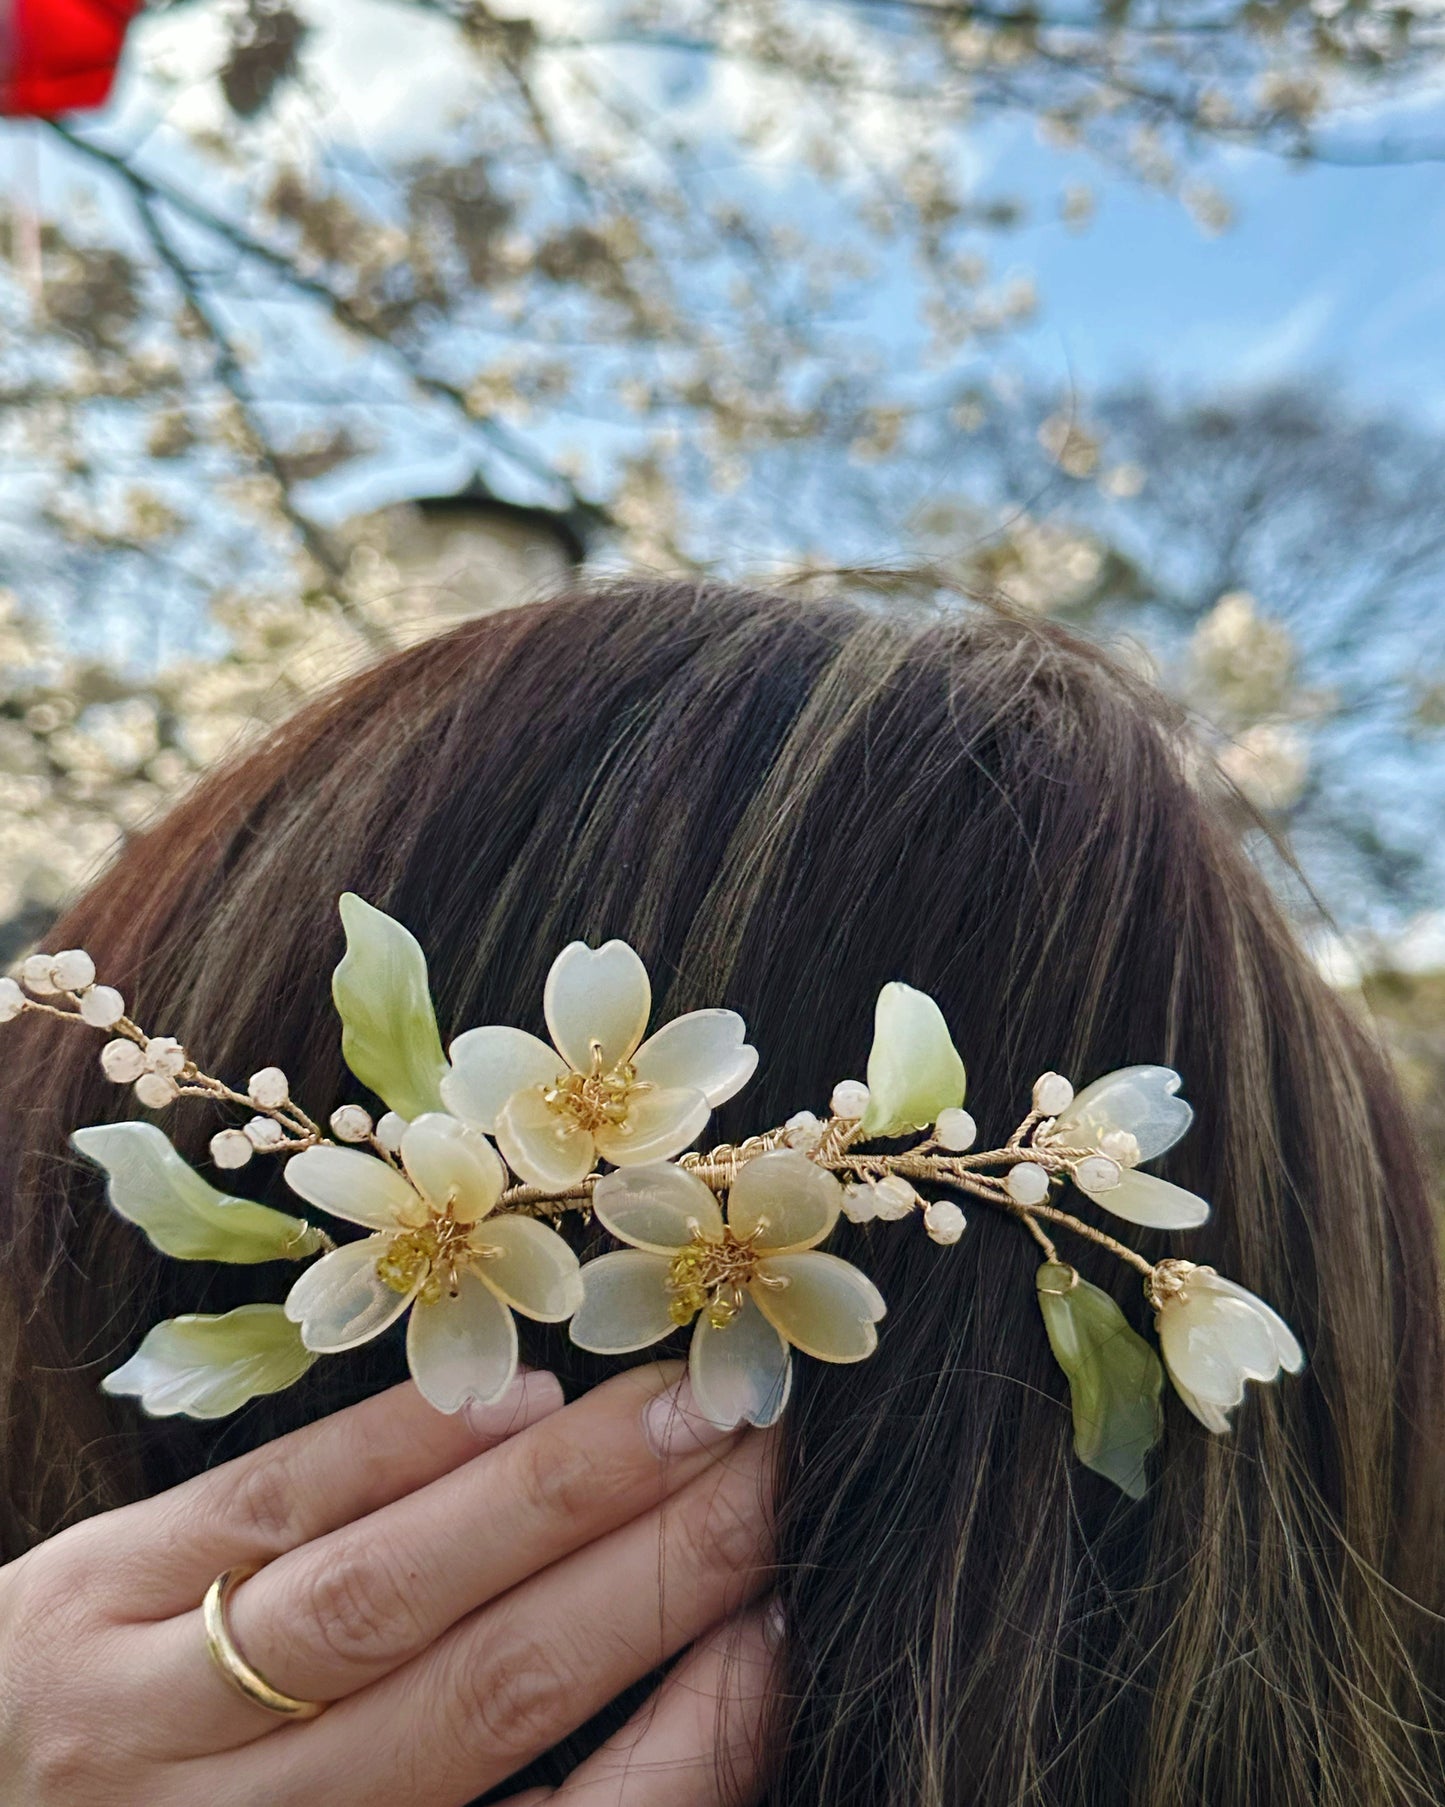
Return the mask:
[[625, 1167], [679, 1155], [757, 1066], [733, 1010], [694, 1010], [643, 1041], [652, 987], [625, 941], [564, 947], [542, 1010], [555, 1046], [520, 1028], [468, 1030], [441, 1095], [497, 1137], [515, 1173], [553, 1191], [598, 1156]]

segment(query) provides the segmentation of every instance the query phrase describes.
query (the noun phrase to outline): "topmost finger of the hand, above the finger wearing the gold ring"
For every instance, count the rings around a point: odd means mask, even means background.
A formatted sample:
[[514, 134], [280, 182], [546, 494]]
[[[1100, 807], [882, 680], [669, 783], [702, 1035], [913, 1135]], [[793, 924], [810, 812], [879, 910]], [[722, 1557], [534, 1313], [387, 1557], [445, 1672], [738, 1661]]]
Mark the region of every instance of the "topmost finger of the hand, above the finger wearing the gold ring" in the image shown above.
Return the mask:
[[130, 1606], [132, 1621], [188, 1612], [222, 1568], [264, 1567], [365, 1518], [562, 1404], [562, 1384], [542, 1370], [522, 1370], [495, 1404], [453, 1415], [405, 1381], [94, 1520], [105, 1588]]

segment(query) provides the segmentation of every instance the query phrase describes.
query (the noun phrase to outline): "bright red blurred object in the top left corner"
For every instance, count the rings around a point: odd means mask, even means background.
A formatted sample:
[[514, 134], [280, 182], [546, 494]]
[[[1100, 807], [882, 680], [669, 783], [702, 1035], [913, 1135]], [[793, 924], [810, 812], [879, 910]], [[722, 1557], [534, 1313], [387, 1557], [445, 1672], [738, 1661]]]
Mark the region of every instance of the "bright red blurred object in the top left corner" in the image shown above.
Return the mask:
[[0, 0], [0, 114], [99, 107], [141, 0]]

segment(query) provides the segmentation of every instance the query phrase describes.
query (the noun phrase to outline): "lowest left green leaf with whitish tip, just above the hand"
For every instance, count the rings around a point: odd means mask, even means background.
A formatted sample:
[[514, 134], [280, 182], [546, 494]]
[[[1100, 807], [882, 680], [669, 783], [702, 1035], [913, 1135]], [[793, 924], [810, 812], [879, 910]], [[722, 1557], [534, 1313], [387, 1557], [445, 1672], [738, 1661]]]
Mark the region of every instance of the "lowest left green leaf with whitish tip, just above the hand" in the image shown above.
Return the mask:
[[280, 1305], [242, 1305], [222, 1317], [168, 1317], [101, 1381], [154, 1418], [224, 1418], [258, 1393], [280, 1393], [316, 1361]]

